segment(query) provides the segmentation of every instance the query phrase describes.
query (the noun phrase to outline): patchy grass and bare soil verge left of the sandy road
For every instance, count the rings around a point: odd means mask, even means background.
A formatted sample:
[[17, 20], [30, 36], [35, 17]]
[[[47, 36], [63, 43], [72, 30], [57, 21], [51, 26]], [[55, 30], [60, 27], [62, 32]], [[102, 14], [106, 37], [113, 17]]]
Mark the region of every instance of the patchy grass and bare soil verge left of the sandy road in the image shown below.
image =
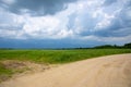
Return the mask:
[[44, 72], [50, 67], [52, 65], [37, 64], [28, 61], [3, 60], [0, 61], [0, 83], [11, 77]]

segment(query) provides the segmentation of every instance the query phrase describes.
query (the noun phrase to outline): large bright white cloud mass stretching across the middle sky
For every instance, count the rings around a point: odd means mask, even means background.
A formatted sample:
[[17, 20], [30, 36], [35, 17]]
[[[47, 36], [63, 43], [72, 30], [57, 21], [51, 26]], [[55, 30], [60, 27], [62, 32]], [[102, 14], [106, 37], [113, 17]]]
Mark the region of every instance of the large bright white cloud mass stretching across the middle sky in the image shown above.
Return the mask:
[[[10, 0], [5, 0], [11, 3]], [[12, 1], [13, 2], [13, 1]], [[62, 39], [73, 38], [82, 40], [96, 40], [105, 42], [128, 41], [131, 36], [124, 37], [99, 37], [94, 35], [96, 30], [106, 29], [121, 11], [115, 8], [108, 12], [103, 8], [104, 0], [80, 0], [68, 4], [68, 8], [55, 15], [32, 16], [23, 9], [23, 14], [17, 15], [0, 10], [0, 37], [13, 39]], [[119, 3], [121, 4], [121, 3]], [[110, 9], [110, 7], [108, 7]], [[70, 15], [75, 14], [72, 27], [68, 27]], [[126, 13], [131, 16], [130, 10]], [[10, 26], [11, 28], [7, 28]], [[21, 27], [19, 27], [21, 26]], [[4, 27], [1, 28], [1, 27]], [[81, 36], [82, 33], [87, 33]], [[90, 34], [91, 33], [91, 34]]]

